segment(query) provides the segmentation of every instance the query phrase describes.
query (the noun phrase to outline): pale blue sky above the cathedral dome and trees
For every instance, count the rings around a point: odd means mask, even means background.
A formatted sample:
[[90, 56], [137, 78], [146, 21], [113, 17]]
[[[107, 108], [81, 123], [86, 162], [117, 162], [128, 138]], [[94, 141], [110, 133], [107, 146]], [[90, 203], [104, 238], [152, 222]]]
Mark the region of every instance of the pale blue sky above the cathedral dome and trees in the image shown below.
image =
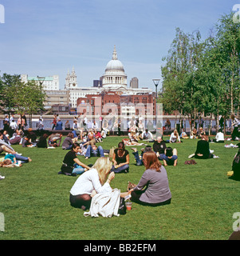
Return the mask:
[[[175, 29], [204, 40], [236, 0], [0, 0], [0, 74], [51, 76], [60, 89], [73, 67], [78, 87], [93, 86], [114, 46], [128, 75], [155, 90]], [[0, 7], [1, 7], [0, 6]], [[2, 12], [0, 11], [0, 21]], [[159, 83], [159, 86], [161, 82]]]

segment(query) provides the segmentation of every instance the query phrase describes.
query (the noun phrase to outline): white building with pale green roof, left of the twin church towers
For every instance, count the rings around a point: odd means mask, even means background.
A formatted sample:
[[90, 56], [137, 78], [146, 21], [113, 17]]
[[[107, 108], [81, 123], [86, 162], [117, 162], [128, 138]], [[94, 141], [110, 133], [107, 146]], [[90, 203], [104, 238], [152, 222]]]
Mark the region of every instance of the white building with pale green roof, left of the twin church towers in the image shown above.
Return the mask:
[[59, 90], [59, 76], [57, 74], [48, 77], [30, 77], [28, 74], [22, 74], [21, 81], [35, 81], [41, 85], [42, 90]]

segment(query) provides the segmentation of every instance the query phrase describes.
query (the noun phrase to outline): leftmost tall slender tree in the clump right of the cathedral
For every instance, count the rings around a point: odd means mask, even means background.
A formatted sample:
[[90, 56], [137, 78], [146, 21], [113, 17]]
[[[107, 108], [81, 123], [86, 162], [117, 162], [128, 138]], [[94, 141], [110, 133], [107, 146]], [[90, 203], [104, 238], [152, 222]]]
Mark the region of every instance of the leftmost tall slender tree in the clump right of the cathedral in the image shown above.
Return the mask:
[[199, 105], [198, 90], [195, 88], [195, 72], [199, 62], [199, 54], [203, 44], [199, 31], [185, 34], [176, 29], [175, 39], [171, 44], [166, 62], [162, 66], [164, 110], [179, 110], [180, 124], [183, 115], [190, 120], [195, 118]]

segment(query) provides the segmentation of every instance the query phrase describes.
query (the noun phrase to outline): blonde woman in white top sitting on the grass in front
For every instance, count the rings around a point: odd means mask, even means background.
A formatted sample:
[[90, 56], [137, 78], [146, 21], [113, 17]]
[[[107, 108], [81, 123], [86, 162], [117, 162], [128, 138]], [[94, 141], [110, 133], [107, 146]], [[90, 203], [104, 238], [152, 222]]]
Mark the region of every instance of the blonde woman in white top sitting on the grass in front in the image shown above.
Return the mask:
[[98, 158], [92, 169], [81, 174], [70, 190], [71, 206], [89, 209], [95, 194], [111, 192], [110, 182], [115, 177], [114, 172], [109, 174], [111, 168], [112, 162], [109, 158]]

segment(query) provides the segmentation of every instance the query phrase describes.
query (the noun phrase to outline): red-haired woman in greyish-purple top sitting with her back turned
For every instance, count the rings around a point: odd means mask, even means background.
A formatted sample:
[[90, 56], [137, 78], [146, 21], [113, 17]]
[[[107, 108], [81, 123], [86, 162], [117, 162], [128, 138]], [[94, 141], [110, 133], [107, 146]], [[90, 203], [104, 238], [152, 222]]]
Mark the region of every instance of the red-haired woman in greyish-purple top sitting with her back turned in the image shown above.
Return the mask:
[[[140, 182], [131, 192], [132, 202], [145, 206], [161, 206], [171, 202], [167, 171], [159, 162], [155, 152], [148, 151], [143, 156], [146, 170]], [[144, 189], [144, 187], [146, 188]]]

